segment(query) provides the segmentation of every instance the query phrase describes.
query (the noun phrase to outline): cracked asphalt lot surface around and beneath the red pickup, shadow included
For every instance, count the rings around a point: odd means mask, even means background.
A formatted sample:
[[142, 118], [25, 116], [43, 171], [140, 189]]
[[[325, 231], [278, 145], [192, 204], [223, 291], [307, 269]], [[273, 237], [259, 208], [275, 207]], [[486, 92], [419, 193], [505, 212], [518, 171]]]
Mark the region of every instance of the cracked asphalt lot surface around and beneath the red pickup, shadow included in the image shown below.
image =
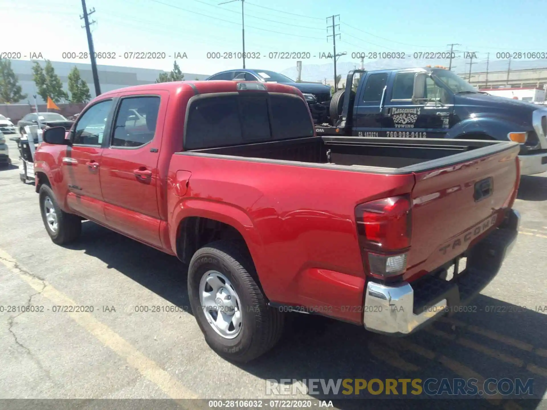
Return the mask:
[[[274, 350], [236, 366], [208, 348], [188, 309], [137, 312], [189, 306], [176, 258], [92, 222], [84, 222], [77, 244], [54, 245], [33, 185], [19, 179], [18, 151], [7, 137], [13, 166], [0, 170], [0, 399], [270, 400], [266, 379], [310, 378], [520, 378], [533, 379], [530, 397], [546, 395], [547, 174], [521, 179], [520, 235], [501, 272], [474, 300], [476, 312], [407, 338], [294, 314]], [[25, 306], [43, 311], [18, 310]], [[377, 408], [386, 399], [375, 397], [335, 405]], [[485, 397], [473, 408], [547, 408], [531, 398]], [[445, 402], [433, 407], [448, 408]]]

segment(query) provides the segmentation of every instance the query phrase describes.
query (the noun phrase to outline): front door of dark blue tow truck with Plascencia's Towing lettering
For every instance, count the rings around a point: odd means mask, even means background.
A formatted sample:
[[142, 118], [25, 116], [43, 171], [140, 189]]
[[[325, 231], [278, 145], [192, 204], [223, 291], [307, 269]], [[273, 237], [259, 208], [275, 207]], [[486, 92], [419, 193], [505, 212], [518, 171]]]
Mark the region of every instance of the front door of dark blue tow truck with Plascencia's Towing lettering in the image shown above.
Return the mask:
[[416, 72], [395, 74], [383, 108], [383, 137], [444, 138], [449, 130], [453, 105], [445, 89], [426, 78], [423, 101], [412, 102]]

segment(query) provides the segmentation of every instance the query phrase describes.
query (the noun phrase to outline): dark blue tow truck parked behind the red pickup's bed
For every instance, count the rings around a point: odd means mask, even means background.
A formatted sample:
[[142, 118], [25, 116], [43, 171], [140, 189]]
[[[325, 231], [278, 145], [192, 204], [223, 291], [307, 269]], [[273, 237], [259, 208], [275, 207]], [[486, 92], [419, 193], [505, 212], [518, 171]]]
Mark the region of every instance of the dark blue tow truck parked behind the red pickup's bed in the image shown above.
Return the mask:
[[513, 140], [521, 175], [547, 171], [547, 107], [480, 92], [444, 68], [354, 70], [317, 135]]

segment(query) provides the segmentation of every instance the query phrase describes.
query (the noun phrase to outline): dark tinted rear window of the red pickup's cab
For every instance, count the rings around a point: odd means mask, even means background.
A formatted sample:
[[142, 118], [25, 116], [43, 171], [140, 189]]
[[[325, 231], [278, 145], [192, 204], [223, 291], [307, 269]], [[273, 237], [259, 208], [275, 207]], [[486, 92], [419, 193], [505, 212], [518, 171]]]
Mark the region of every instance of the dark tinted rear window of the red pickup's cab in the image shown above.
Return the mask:
[[184, 149], [313, 136], [306, 103], [289, 95], [215, 96], [191, 103]]

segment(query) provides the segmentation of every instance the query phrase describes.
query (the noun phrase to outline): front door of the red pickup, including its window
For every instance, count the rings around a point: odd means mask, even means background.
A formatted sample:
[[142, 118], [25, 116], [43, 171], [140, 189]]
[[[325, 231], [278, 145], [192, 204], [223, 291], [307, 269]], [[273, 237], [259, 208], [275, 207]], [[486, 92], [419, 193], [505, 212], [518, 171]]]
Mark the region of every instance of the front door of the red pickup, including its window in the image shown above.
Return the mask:
[[97, 102], [79, 116], [72, 146], [62, 157], [63, 178], [68, 185], [67, 204], [74, 212], [104, 223], [100, 165], [103, 136], [112, 122], [112, 99]]

